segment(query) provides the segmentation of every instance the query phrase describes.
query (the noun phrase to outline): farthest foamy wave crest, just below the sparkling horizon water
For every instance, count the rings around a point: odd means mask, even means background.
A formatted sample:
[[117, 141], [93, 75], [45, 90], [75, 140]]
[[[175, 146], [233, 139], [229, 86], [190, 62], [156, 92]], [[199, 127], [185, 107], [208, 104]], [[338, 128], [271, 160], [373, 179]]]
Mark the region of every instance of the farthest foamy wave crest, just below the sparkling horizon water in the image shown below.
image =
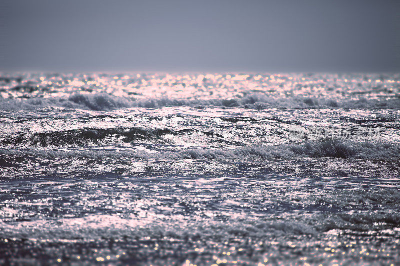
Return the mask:
[[68, 97], [4, 99], [0, 98], [0, 110], [35, 110], [45, 107], [64, 107], [70, 109], [86, 109], [94, 111], [114, 110], [129, 107], [160, 108], [164, 106], [206, 107], [241, 107], [252, 109], [264, 108], [389, 108], [400, 109], [400, 98], [355, 99], [313, 98], [304, 96], [276, 97], [254, 92], [243, 97], [231, 99], [173, 99], [152, 98], [140, 99], [117, 97], [106, 93], [81, 94], [74, 93]]

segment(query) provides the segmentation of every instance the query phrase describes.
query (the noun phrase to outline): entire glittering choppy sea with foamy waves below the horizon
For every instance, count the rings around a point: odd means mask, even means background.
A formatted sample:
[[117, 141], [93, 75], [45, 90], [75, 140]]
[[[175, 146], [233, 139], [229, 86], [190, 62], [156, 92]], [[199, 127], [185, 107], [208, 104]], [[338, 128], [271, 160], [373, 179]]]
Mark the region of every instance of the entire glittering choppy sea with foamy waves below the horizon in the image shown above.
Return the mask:
[[400, 74], [1, 73], [0, 264], [399, 265]]

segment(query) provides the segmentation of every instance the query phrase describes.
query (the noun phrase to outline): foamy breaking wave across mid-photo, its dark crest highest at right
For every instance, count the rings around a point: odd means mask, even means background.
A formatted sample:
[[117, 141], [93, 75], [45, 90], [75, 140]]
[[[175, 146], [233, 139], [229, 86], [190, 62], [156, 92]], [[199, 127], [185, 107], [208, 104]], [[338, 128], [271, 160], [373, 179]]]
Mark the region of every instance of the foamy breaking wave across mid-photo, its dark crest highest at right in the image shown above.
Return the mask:
[[[143, 151], [134, 148], [97, 147], [93, 149], [0, 149], [0, 155], [11, 159], [20, 157], [47, 158], [141, 158], [145, 160], [265, 160], [309, 158], [342, 158], [367, 160], [399, 160], [400, 146], [386, 143], [355, 142], [344, 140], [307, 141], [300, 144], [248, 145], [234, 149], [185, 149], [176, 151]], [[8, 159], [4, 159], [4, 164]], [[12, 162], [8, 162], [12, 163]]]

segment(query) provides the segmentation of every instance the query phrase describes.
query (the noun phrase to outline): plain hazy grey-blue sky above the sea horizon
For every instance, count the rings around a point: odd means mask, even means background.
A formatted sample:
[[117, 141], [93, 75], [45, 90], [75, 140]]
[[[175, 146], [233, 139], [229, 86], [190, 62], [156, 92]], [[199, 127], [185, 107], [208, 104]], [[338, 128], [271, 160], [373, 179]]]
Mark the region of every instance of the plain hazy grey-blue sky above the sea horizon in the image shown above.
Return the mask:
[[400, 70], [394, 0], [3, 5], [3, 71]]

